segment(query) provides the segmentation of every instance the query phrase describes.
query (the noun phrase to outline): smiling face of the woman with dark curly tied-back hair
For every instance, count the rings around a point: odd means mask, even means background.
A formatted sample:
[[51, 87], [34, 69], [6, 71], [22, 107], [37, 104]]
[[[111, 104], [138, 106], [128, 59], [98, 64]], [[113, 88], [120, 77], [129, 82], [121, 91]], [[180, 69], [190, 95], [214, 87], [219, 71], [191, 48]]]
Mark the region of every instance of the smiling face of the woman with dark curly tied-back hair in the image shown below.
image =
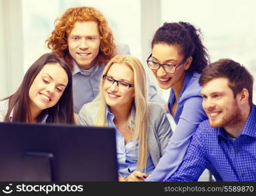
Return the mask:
[[[177, 44], [154, 44], [150, 60], [156, 63], [178, 65], [184, 59], [184, 56], [179, 51], [180, 47]], [[167, 90], [172, 87], [182, 86], [186, 70], [189, 69], [189, 66], [190, 63], [186, 61], [183, 65], [177, 67], [175, 73], [166, 73], [162, 66], [157, 70], [152, 70], [152, 72], [160, 88]]]

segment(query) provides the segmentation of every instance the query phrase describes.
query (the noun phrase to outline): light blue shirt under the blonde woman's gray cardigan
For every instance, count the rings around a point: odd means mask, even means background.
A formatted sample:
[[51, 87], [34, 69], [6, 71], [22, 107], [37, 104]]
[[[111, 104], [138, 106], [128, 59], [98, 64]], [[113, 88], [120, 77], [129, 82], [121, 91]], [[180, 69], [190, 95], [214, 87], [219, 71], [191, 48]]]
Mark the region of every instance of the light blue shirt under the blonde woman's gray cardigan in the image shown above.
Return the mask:
[[[134, 125], [135, 112], [132, 108], [132, 124]], [[107, 106], [106, 110], [106, 120], [109, 127], [114, 127], [116, 129], [116, 142], [117, 142], [117, 162], [119, 164], [119, 175], [121, 177], [129, 176], [132, 172], [136, 171], [139, 144], [136, 142], [136, 148], [134, 148], [134, 141], [130, 140], [124, 144], [124, 136], [119, 132], [115, 123], [113, 122], [115, 116], [109, 111]], [[151, 156], [149, 155], [147, 160], [147, 167], [145, 168], [145, 173], [151, 174], [155, 169]]]

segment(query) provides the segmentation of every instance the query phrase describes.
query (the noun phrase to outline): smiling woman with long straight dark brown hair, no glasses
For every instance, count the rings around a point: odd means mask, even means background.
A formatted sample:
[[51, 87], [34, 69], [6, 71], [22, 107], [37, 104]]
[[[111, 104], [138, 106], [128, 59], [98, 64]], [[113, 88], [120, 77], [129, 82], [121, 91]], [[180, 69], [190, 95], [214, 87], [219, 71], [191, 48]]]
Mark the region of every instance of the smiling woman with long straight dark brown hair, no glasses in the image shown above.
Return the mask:
[[18, 90], [0, 102], [0, 122], [74, 123], [72, 74], [54, 53], [39, 57]]

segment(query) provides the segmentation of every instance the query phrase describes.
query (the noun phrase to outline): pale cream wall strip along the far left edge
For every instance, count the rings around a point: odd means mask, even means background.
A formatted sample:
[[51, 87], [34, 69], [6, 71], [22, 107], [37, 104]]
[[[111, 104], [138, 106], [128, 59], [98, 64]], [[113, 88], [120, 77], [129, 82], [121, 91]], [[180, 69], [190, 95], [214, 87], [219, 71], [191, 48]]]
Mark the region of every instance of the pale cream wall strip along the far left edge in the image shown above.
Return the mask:
[[23, 78], [20, 0], [0, 0], [0, 99], [14, 93]]

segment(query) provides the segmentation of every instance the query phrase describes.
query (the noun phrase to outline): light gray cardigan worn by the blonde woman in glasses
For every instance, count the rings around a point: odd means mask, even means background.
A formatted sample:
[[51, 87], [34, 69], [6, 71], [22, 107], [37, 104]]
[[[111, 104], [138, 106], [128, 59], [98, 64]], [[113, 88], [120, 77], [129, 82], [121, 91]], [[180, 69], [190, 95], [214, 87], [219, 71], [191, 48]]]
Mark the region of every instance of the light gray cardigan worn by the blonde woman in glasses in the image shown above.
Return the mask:
[[[79, 112], [79, 125], [94, 126], [94, 120], [98, 114], [98, 103], [90, 102], [82, 106]], [[166, 116], [164, 108], [156, 103], [149, 103], [149, 123], [148, 123], [148, 145], [149, 154], [156, 166], [160, 157], [164, 154], [170, 137], [172, 128]]]

